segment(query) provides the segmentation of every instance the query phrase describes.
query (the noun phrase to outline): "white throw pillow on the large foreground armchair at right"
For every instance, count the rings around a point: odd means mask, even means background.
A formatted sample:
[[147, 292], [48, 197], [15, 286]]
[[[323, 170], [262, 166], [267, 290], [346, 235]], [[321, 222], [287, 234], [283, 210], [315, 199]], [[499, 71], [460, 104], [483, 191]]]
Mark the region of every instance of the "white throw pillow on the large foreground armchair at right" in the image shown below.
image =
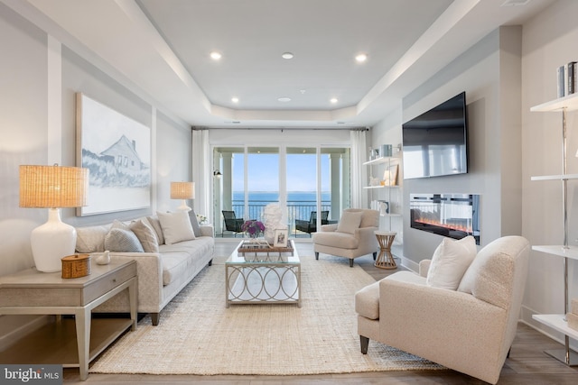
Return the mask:
[[459, 241], [443, 238], [433, 252], [426, 283], [435, 288], [458, 289], [463, 274], [470, 267], [477, 252], [476, 241], [471, 235]]

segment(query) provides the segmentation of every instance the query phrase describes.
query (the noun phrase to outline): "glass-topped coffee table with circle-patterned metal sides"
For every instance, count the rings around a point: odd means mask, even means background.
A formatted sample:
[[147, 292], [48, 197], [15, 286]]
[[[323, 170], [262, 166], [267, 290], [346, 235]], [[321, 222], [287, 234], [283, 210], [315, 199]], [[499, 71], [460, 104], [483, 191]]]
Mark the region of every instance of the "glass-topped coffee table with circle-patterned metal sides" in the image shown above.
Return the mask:
[[301, 307], [301, 261], [287, 247], [248, 248], [243, 241], [225, 262], [225, 306], [286, 304]]

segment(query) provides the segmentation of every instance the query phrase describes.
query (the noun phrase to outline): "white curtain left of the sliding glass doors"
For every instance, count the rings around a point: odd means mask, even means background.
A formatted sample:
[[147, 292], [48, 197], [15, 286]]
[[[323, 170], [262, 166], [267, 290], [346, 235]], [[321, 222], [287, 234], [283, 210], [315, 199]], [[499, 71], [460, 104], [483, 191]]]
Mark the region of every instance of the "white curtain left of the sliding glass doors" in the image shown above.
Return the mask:
[[192, 181], [195, 182], [193, 208], [196, 214], [210, 218], [210, 170], [209, 130], [192, 130]]

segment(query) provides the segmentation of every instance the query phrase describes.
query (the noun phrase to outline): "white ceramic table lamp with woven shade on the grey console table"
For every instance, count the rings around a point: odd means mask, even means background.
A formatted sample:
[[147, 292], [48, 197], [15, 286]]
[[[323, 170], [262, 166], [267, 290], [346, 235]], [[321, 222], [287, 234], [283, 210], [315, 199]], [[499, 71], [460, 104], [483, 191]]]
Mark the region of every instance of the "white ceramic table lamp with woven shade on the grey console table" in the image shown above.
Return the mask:
[[88, 190], [88, 169], [20, 166], [20, 206], [49, 209], [48, 221], [30, 235], [36, 270], [61, 271], [61, 258], [74, 253], [76, 229], [61, 221], [61, 208], [86, 206]]

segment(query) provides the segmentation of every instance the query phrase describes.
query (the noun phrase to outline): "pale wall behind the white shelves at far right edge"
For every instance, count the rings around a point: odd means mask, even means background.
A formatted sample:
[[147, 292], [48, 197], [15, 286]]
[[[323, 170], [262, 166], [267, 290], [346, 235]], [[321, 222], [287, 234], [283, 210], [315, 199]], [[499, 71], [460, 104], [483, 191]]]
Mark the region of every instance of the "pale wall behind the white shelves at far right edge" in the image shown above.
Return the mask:
[[[523, 163], [522, 234], [532, 244], [563, 243], [562, 182], [531, 181], [532, 176], [562, 173], [562, 114], [532, 113], [556, 97], [556, 68], [578, 60], [578, 2], [561, 0], [524, 24], [521, 98]], [[578, 173], [578, 113], [568, 114], [568, 173]], [[577, 245], [578, 185], [568, 183], [569, 241]], [[578, 263], [570, 261], [570, 298], [578, 298]], [[523, 318], [535, 313], [564, 312], [563, 260], [532, 252]], [[547, 330], [547, 329], [545, 329]], [[549, 332], [549, 330], [548, 330]], [[555, 334], [560, 337], [560, 335]]]

